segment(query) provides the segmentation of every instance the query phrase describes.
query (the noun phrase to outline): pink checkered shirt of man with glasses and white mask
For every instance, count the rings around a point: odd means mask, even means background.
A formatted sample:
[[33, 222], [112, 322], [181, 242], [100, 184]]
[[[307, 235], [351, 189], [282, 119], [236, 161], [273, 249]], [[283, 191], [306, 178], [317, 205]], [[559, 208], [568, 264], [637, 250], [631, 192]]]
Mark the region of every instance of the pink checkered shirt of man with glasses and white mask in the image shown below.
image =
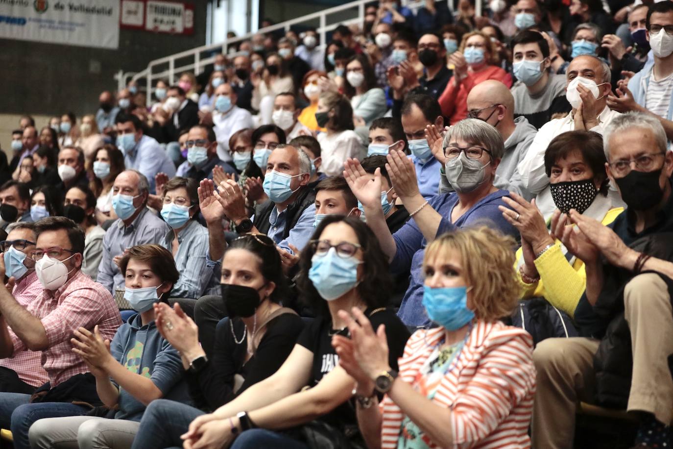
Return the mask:
[[[103, 338], [112, 340], [122, 324], [110, 292], [81, 271], [55, 292], [42, 290], [26, 309], [40, 318], [46, 331], [49, 347], [40, 354], [51, 388], [88, 371], [81, 357], [72, 351], [70, 339], [76, 329], [83, 327], [94, 331], [98, 324]], [[11, 329], [9, 335], [14, 353], [26, 351], [26, 344]]]

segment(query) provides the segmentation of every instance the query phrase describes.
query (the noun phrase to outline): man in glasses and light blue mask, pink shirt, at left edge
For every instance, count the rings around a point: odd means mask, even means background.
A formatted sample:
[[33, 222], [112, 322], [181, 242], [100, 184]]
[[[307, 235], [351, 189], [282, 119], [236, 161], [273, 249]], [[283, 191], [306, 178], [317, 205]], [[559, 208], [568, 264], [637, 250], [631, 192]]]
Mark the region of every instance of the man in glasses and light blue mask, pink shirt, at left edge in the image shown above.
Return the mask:
[[[35, 261], [30, 253], [35, 249], [33, 223], [11, 223], [7, 240], [0, 242], [4, 255], [5, 275], [13, 277], [12, 296], [21, 306], [28, 307], [42, 294], [42, 284], [35, 273]], [[42, 353], [21, 351], [14, 357], [0, 359], [0, 391], [32, 394], [49, 380], [42, 368]]]

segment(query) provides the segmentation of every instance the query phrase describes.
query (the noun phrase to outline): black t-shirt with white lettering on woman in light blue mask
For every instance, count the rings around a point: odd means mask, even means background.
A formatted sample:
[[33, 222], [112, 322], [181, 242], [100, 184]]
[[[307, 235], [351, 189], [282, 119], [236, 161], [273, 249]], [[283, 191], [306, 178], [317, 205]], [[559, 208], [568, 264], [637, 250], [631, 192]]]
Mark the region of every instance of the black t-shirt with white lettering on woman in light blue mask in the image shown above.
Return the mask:
[[[372, 313], [374, 312], [374, 313]], [[386, 337], [388, 338], [388, 364], [397, 370], [397, 359], [402, 357], [404, 345], [409, 339], [409, 330], [400, 321], [395, 312], [390, 309], [367, 309], [365, 315], [369, 317], [371, 326], [376, 331], [380, 324], [386, 325]], [[313, 366], [311, 369], [310, 386], [315, 386], [322, 378], [339, 366], [339, 355], [336, 355], [332, 347], [331, 318], [316, 318], [314, 322], [304, 328], [297, 339], [297, 345], [302, 345], [313, 353]], [[348, 329], [339, 332], [339, 335], [348, 335]], [[320, 418], [322, 421], [343, 428], [345, 425], [357, 424], [353, 401], [347, 401], [336, 409]]]

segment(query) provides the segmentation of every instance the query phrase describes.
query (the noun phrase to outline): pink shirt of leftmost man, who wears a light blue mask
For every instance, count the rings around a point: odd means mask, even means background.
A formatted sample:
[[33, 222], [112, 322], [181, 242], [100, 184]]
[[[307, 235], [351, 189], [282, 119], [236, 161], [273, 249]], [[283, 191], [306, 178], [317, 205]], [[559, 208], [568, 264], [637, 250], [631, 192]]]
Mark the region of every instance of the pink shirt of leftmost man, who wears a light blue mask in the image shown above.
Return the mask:
[[[35, 274], [35, 270], [31, 270], [26, 276], [19, 279], [11, 294], [16, 302], [28, 307], [38, 296], [42, 295], [42, 290], [44, 290], [44, 287], [38, 281], [38, 275]], [[0, 359], [0, 366], [14, 370], [21, 380], [32, 386], [40, 386], [49, 380], [49, 376], [42, 368], [42, 353], [40, 352], [21, 351], [14, 353], [9, 359]]]

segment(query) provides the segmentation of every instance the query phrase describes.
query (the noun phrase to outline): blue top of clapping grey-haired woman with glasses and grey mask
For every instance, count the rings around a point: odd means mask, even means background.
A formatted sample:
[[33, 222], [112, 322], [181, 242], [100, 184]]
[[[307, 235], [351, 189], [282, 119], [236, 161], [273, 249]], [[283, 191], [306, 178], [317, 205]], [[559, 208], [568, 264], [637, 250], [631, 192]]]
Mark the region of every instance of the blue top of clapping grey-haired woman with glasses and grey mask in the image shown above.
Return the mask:
[[[508, 191], [497, 191], [487, 195], [472, 206], [455, 223], [451, 222], [451, 213], [458, 204], [458, 195], [455, 193], [437, 195], [429, 200], [429, 205], [442, 216], [437, 236], [456, 230], [487, 224], [510, 236], [518, 236], [516, 228], [511, 226], [502, 216], [498, 206], [506, 206], [502, 197], [509, 195]], [[393, 234], [397, 252], [390, 263], [390, 270], [395, 273], [404, 273], [411, 267], [409, 288], [404, 293], [398, 316], [407, 326], [427, 326], [430, 324], [421, 304], [423, 300], [423, 256], [427, 242], [423, 233], [412, 218], [406, 222], [398, 232]], [[513, 250], [513, 248], [512, 248]]]

